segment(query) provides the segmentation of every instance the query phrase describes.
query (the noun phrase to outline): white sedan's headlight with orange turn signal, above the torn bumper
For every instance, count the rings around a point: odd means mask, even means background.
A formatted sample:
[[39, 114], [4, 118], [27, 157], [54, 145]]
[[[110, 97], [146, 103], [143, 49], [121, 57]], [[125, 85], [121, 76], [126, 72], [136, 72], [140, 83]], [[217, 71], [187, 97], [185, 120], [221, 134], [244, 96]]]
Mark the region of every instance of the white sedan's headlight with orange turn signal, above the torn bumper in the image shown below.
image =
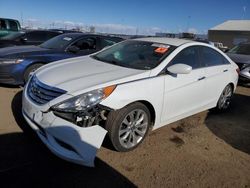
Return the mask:
[[107, 98], [115, 88], [116, 86], [109, 86], [102, 89], [93, 90], [54, 105], [52, 109], [63, 112], [84, 111]]

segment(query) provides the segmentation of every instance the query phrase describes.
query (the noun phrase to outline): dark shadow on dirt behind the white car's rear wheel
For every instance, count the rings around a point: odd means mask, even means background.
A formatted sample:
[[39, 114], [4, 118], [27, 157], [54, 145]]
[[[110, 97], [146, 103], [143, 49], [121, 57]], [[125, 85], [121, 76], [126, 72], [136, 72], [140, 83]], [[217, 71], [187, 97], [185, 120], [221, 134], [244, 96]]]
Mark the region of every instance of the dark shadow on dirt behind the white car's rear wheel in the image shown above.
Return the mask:
[[231, 108], [224, 113], [209, 113], [206, 126], [232, 147], [250, 154], [250, 97], [235, 94]]

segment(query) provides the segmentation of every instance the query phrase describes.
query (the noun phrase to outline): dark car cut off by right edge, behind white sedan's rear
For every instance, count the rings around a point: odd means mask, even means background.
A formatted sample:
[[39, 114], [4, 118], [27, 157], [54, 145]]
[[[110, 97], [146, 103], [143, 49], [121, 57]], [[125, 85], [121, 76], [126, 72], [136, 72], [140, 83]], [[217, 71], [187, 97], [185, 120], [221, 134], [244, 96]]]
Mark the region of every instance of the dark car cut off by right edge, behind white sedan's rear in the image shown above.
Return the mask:
[[233, 47], [227, 55], [239, 66], [240, 80], [250, 82], [250, 42]]

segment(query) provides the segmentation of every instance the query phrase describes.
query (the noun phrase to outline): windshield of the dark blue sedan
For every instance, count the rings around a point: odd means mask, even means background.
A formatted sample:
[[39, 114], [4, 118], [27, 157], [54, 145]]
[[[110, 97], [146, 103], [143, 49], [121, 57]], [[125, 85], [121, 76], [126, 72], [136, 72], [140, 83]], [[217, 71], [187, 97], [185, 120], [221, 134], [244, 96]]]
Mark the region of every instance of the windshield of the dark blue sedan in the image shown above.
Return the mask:
[[59, 35], [46, 42], [42, 43], [40, 47], [47, 49], [64, 49], [66, 48], [76, 37], [69, 35]]

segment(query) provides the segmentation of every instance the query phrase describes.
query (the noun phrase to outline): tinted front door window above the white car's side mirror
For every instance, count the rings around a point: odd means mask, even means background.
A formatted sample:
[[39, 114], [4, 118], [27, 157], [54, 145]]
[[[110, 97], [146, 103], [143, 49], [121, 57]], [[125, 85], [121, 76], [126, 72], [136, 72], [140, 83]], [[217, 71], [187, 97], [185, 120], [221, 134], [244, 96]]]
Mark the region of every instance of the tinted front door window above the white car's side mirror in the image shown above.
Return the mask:
[[186, 64], [191, 66], [192, 69], [199, 68], [199, 48], [197, 46], [194, 46], [182, 50], [175, 56], [175, 58], [168, 64], [168, 66], [175, 64]]

